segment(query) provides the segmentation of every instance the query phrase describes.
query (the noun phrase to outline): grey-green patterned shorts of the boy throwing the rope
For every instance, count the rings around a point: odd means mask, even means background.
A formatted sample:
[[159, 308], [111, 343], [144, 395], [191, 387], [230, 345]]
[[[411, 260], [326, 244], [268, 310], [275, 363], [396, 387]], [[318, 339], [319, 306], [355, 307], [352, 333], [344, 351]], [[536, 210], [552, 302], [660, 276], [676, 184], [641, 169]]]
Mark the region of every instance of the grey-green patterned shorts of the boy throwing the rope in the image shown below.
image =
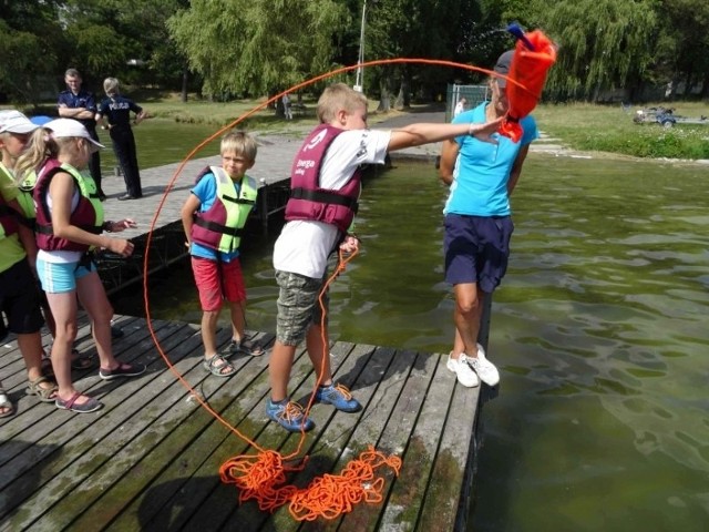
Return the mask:
[[[286, 346], [297, 346], [306, 337], [312, 324], [320, 324], [322, 309], [319, 296], [325, 279], [314, 279], [305, 275], [276, 270], [278, 283], [278, 316], [276, 318], [276, 339]], [[327, 326], [327, 311], [330, 298], [328, 293], [322, 296]]]

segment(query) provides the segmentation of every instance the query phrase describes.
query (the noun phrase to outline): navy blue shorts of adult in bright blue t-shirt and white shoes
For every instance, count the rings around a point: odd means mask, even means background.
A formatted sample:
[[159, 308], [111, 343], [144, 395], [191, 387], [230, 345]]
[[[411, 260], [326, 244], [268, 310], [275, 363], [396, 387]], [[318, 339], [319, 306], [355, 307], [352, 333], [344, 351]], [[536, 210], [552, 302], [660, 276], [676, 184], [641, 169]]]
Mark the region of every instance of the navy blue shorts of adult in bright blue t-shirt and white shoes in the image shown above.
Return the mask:
[[446, 283], [477, 283], [492, 293], [507, 272], [512, 217], [448, 214], [443, 225]]

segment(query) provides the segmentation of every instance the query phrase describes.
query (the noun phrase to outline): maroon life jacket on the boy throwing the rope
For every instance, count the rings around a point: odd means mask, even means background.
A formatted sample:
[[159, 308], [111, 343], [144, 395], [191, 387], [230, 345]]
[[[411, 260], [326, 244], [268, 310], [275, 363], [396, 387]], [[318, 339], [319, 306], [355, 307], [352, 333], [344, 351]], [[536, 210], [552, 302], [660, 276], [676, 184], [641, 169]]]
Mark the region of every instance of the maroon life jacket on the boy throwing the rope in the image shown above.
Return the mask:
[[290, 171], [290, 198], [286, 219], [311, 219], [347, 229], [357, 214], [361, 172], [354, 171], [339, 191], [321, 188], [320, 168], [332, 141], [345, 130], [322, 124], [316, 127], [300, 146]]

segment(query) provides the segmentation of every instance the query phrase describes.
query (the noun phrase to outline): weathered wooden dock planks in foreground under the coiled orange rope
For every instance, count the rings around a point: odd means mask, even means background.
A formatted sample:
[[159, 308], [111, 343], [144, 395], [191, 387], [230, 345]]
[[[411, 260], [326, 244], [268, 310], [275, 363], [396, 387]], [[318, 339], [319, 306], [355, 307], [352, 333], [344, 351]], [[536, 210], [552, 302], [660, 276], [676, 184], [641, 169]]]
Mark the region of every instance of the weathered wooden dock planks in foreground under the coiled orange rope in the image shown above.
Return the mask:
[[[362, 402], [358, 413], [315, 405], [305, 471], [289, 482], [305, 487], [342, 467], [369, 446], [395, 453], [401, 473], [386, 479], [384, 500], [360, 503], [335, 521], [298, 523], [286, 508], [274, 514], [254, 501], [239, 505], [218, 470], [254, 451], [203, 409], [167, 369], [146, 323], [117, 317], [126, 332], [114, 340], [120, 359], [147, 365], [135, 379], [103, 381], [97, 370], [74, 371], [78, 388], [104, 403], [76, 415], [24, 393], [25, 371], [16, 341], [0, 346], [0, 376], [18, 413], [0, 419], [0, 530], [2, 531], [464, 531], [476, 459], [479, 389], [456, 383], [445, 356], [336, 342], [336, 379]], [[289, 434], [265, 415], [268, 357], [236, 356], [238, 374], [220, 379], [202, 367], [198, 326], [153, 321], [175, 368], [233, 427], [268, 449], [292, 452]], [[251, 336], [268, 342], [263, 332]], [[230, 330], [218, 331], [222, 347]], [[79, 348], [95, 352], [85, 318]], [[45, 339], [49, 344], [49, 339]], [[296, 355], [290, 391], [307, 400], [315, 375]]]

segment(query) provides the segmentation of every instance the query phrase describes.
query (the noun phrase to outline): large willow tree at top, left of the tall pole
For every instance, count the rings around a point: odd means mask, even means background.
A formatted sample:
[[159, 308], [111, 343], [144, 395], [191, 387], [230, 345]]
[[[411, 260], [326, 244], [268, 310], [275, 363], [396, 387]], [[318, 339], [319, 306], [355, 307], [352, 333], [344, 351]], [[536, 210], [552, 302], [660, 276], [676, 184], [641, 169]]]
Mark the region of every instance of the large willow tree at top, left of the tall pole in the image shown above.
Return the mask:
[[207, 94], [266, 94], [330, 69], [347, 22], [335, 0], [193, 0], [167, 21]]

